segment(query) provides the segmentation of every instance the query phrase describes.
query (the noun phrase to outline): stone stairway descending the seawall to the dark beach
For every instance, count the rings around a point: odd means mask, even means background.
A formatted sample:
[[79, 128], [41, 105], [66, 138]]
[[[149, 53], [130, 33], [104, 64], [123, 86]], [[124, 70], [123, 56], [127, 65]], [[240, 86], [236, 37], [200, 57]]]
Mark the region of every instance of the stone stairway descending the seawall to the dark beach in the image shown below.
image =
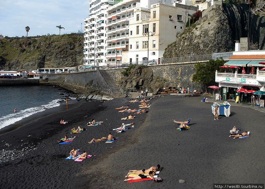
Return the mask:
[[110, 87], [110, 90], [112, 91], [112, 94], [111, 95], [114, 98], [123, 98], [124, 96], [120, 92], [120, 89], [116, 85], [115, 80], [113, 79], [112, 75], [110, 75], [110, 73], [108, 73], [105, 70], [99, 70], [99, 72], [100, 72], [100, 75], [102, 76], [102, 78], [105, 79], [106, 83]]

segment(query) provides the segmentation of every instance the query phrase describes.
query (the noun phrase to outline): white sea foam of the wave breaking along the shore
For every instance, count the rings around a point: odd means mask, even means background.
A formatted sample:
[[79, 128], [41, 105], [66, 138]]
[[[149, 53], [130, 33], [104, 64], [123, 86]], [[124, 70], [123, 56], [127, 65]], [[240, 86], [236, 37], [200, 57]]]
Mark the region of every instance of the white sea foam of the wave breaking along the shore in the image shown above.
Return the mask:
[[[13, 124], [23, 118], [31, 116], [34, 113], [45, 111], [46, 108], [53, 108], [53, 107], [59, 106], [60, 105], [59, 101], [60, 99], [56, 99], [56, 100], [49, 102], [48, 104], [44, 104], [44, 105], [33, 107], [33, 108], [27, 108], [17, 113], [12, 113], [6, 116], [2, 116], [0, 117], [0, 129], [10, 124]], [[45, 109], [43, 109], [42, 106], [44, 106]]]

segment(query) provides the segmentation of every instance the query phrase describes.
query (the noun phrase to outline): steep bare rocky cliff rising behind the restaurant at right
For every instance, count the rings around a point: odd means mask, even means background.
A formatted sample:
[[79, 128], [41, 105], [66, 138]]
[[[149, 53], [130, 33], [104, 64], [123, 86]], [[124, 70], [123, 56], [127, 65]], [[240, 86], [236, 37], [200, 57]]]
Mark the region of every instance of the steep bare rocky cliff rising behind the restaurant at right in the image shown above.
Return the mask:
[[[177, 40], [170, 44], [164, 58], [196, 56], [234, 51], [235, 40], [247, 37], [247, 4], [223, 4], [223, 8], [212, 8], [202, 19], [188, 27]], [[265, 17], [254, 16], [250, 37], [252, 48], [265, 49]]]

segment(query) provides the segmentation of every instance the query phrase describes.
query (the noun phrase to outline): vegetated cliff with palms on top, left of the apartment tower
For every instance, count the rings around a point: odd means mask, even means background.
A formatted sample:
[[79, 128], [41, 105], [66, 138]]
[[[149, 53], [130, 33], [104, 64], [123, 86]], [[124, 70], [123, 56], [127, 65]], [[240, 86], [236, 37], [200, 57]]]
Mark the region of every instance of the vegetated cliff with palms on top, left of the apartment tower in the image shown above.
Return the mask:
[[83, 64], [83, 34], [0, 39], [0, 69], [35, 70]]

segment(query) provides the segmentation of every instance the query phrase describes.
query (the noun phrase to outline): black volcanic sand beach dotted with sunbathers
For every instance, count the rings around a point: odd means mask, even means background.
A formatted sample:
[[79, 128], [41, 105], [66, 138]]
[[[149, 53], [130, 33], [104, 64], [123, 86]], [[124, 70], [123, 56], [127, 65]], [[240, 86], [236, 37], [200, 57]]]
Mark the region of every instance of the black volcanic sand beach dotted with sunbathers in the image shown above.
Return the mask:
[[[118, 113], [115, 108], [137, 108], [140, 103], [128, 103], [126, 98], [82, 103], [3, 134], [0, 150], [5, 149], [6, 142], [12, 148], [34, 143], [37, 149], [24, 158], [1, 163], [1, 188], [213, 188], [214, 183], [264, 183], [264, 113], [231, 106], [229, 117], [219, 116], [215, 121], [211, 104], [201, 100], [178, 95], [154, 98], [148, 101], [148, 113], [125, 121], [120, 119], [129, 113]], [[174, 127], [173, 119], [185, 121], [191, 117], [188, 131]], [[85, 126], [92, 118], [104, 122]], [[61, 119], [69, 123], [61, 125]], [[110, 131], [131, 122], [135, 128], [124, 133]], [[250, 137], [229, 138], [233, 125], [241, 129], [239, 133], [251, 131]], [[77, 136], [72, 143], [56, 144], [78, 126], [87, 130], [72, 135]], [[109, 132], [120, 138], [113, 143], [88, 143], [92, 138], [107, 137]], [[65, 159], [72, 148], [97, 156], [82, 162]], [[163, 183], [122, 182], [129, 170], [157, 164], [163, 167], [159, 174]], [[186, 183], [179, 183], [179, 179]]]

